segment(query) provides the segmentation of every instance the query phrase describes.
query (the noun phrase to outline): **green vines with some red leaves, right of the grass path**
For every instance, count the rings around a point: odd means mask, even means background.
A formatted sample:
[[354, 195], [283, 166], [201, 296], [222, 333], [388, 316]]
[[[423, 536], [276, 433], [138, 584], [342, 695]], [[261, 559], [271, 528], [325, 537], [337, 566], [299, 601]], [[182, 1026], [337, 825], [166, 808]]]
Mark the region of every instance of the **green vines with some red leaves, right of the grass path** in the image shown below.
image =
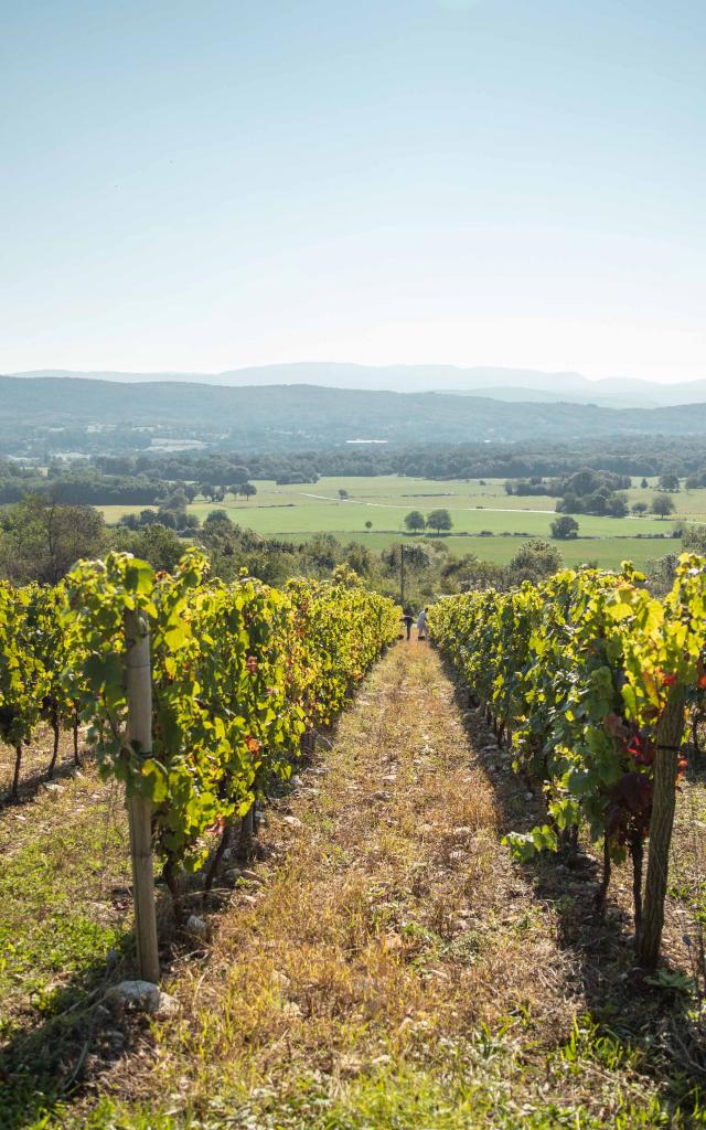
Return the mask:
[[706, 686], [706, 563], [683, 555], [664, 601], [643, 581], [627, 564], [568, 571], [444, 600], [430, 623], [515, 770], [543, 789], [548, 823], [511, 833], [513, 852], [556, 851], [585, 825], [603, 844], [602, 899], [611, 863], [629, 853], [637, 951], [654, 968], [687, 710]]

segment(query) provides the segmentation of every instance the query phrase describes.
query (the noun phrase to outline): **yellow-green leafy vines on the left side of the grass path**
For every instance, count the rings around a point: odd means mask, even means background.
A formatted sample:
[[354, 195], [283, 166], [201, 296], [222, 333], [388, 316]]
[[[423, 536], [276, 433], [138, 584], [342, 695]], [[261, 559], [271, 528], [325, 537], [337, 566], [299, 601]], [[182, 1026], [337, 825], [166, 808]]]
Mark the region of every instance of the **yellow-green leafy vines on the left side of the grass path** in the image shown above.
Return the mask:
[[[76, 736], [82, 722], [101, 775], [123, 782], [129, 807], [136, 797], [148, 806], [178, 899], [180, 876], [211, 852], [207, 833], [225, 843], [272, 780], [291, 774], [396, 638], [399, 616], [345, 567], [331, 583], [280, 592], [249, 576], [212, 580], [195, 550], [174, 574], [111, 554], [55, 589], [0, 582], [0, 739], [15, 750], [14, 791], [40, 721], [54, 731], [52, 765], [60, 729]], [[136, 662], [147, 673], [141, 741], [130, 719]]]

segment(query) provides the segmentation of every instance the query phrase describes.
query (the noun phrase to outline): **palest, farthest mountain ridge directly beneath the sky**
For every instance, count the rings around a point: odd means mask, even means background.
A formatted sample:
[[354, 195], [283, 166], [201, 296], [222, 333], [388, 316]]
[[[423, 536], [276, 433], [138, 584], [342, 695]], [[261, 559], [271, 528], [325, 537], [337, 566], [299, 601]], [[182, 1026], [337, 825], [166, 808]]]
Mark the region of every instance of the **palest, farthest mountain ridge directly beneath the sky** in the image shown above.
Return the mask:
[[167, 382], [226, 385], [229, 388], [315, 384], [328, 389], [368, 392], [447, 392], [490, 397], [505, 401], [598, 405], [604, 408], [661, 408], [706, 401], [706, 379], [660, 384], [653, 381], [605, 379], [590, 381], [581, 373], [544, 373], [539, 370], [453, 365], [348, 365], [300, 362], [234, 368], [224, 373], [77, 373], [40, 370], [11, 373], [17, 377], [71, 377], [125, 383]]

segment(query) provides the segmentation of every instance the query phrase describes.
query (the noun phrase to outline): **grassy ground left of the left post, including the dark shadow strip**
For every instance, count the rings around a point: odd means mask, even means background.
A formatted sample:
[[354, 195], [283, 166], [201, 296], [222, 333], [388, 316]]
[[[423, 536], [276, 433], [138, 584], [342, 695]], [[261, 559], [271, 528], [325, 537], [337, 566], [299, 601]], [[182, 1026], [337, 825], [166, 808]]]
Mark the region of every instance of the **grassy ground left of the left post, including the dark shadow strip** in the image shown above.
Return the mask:
[[0, 810], [0, 1125], [43, 1125], [98, 1050], [120, 1054], [96, 1002], [132, 965], [125, 814], [116, 782], [64, 765]]

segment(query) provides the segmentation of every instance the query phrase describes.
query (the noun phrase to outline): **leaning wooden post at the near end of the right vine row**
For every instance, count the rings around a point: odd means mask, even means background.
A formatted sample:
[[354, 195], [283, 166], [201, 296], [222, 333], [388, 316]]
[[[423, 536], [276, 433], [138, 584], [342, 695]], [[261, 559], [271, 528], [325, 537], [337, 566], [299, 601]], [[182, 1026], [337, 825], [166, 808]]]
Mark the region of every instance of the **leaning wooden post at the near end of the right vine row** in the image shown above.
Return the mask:
[[685, 724], [682, 687], [672, 690], [657, 723], [654, 755], [652, 817], [650, 819], [650, 853], [643, 903], [642, 923], [637, 935], [637, 956], [646, 970], [654, 970], [662, 942], [664, 897], [669, 870], [669, 849], [677, 805], [677, 750]]

